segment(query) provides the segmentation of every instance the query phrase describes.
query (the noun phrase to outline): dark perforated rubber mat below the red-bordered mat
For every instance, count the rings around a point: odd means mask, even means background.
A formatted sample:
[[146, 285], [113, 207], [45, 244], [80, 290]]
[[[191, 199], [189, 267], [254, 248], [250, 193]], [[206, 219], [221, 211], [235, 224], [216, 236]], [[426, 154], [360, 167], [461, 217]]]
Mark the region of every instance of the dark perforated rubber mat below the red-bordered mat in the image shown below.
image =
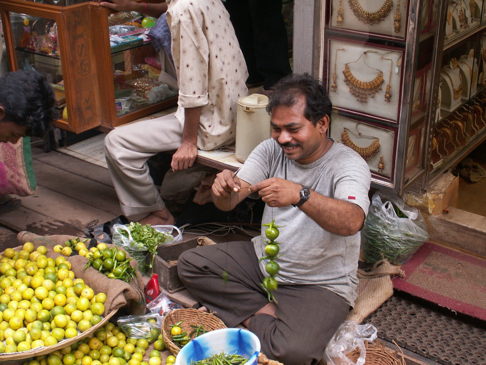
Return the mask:
[[486, 330], [392, 296], [365, 320], [378, 337], [442, 365], [486, 365]]

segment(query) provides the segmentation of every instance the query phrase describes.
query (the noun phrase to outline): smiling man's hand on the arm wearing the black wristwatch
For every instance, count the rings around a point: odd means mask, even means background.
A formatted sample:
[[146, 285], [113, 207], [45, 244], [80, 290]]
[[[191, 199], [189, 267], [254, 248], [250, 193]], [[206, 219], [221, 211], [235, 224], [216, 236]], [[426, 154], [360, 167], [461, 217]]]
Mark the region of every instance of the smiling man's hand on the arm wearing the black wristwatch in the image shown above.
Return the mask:
[[258, 191], [261, 200], [268, 206], [278, 208], [298, 203], [301, 189], [302, 185], [280, 178], [270, 178], [250, 186], [250, 191]]

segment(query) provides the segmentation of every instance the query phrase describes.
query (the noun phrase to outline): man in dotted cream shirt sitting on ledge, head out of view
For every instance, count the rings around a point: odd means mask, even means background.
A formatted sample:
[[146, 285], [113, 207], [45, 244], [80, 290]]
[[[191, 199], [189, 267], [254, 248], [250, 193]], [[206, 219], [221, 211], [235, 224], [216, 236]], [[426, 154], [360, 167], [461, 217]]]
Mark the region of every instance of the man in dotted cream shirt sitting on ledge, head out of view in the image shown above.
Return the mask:
[[141, 224], [174, 224], [149, 174], [147, 160], [176, 149], [171, 167], [191, 167], [197, 148], [235, 139], [236, 101], [248, 94], [243, 54], [220, 0], [167, 1], [179, 87], [175, 113], [112, 130], [104, 139], [113, 185], [126, 216]]

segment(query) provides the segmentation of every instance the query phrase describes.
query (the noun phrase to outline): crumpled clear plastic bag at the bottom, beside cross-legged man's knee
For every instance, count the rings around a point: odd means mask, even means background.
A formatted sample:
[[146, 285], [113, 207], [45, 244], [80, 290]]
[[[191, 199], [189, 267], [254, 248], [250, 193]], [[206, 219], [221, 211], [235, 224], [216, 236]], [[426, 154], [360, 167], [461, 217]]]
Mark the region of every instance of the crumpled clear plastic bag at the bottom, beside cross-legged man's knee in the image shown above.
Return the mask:
[[[345, 321], [339, 326], [326, 347], [326, 361], [329, 365], [363, 365], [366, 359], [364, 340], [376, 340], [377, 329], [373, 325], [358, 325], [356, 321]], [[353, 363], [346, 356], [356, 347], [360, 349], [360, 357]]]

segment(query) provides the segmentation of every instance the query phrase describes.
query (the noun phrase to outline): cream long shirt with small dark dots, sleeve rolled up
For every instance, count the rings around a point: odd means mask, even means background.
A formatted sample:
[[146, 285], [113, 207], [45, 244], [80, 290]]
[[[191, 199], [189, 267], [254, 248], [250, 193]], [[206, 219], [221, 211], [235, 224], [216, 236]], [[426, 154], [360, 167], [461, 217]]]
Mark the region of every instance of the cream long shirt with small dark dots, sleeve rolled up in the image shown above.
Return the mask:
[[225, 6], [220, 0], [171, 0], [167, 22], [179, 84], [176, 118], [183, 125], [184, 108], [202, 106], [198, 148], [231, 144], [248, 72]]

